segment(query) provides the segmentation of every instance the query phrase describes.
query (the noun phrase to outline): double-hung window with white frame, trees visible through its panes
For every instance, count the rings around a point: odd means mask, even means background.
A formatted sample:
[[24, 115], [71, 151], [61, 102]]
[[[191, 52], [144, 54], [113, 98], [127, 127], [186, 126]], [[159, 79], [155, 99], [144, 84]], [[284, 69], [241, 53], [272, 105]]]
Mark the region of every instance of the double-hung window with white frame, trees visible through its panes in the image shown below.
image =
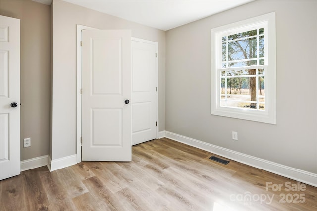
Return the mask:
[[211, 114], [276, 124], [275, 13], [211, 29]]

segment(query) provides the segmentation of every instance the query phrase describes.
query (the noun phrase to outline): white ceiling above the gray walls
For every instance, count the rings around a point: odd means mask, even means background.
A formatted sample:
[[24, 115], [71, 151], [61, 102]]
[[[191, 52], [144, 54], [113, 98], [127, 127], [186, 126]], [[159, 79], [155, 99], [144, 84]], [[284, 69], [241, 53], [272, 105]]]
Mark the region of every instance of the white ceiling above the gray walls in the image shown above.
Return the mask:
[[[33, 0], [50, 5], [52, 0]], [[253, 0], [63, 0], [167, 31]]]

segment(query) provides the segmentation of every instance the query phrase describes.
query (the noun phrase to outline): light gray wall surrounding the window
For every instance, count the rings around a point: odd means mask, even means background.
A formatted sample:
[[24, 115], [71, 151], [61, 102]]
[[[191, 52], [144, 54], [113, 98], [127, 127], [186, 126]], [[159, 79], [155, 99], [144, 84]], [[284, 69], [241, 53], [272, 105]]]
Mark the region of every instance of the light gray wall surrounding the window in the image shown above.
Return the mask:
[[[211, 29], [273, 11], [277, 125], [211, 115]], [[167, 31], [166, 131], [317, 173], [316, 46], [317, 1], [258, 0]]]

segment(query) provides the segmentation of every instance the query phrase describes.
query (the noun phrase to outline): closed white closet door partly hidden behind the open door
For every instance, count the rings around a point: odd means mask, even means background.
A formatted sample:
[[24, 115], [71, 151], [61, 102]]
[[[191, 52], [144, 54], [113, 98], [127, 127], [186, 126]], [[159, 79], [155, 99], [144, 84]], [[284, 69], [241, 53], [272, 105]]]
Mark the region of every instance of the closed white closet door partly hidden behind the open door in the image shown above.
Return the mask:
[[131, 42], [132, 145], [156, 138], [156, 45]]

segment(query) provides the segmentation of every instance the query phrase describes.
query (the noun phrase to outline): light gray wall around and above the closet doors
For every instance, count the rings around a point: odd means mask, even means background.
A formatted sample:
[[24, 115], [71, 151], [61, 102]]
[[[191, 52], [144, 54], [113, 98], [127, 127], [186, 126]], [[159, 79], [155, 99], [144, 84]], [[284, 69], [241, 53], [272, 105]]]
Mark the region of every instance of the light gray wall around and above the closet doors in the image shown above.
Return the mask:
[[76, 154], [76, 25], [132, 29], [132, 36], [159, 42], [159, 130], [165, 130], [165, 31], [64, 1], [53, 1], [52, 160]]

